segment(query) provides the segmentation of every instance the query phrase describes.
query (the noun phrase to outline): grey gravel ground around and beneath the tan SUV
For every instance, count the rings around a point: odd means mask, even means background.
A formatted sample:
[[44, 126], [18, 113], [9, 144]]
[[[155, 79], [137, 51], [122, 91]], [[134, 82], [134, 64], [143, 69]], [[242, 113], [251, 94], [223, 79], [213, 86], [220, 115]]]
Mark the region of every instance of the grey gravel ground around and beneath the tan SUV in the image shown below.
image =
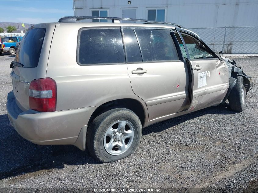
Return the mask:
[[133, 155], [103, 164], [87, 150], [35, 145], [16, 133], [5, 106], [13, 59], [0, 56], [0, 187], [258, 191], [258, 57], [235, 58], [255, 81], [244, 112], [226, 103], [151, 125]]

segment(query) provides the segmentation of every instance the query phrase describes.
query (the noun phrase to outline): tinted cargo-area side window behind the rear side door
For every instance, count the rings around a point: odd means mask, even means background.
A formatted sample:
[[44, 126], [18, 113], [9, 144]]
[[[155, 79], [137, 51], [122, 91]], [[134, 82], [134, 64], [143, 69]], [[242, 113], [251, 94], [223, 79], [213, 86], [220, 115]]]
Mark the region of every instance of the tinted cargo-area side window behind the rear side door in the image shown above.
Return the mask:
[[120, 29], [82, 30], [78, 59], [80, 65], [125, 63]]

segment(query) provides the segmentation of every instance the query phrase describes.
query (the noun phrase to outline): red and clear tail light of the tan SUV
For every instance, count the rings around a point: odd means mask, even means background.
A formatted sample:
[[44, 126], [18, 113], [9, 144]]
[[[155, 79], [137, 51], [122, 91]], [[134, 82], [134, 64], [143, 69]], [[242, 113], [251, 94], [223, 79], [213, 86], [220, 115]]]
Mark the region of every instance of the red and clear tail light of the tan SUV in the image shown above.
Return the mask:
[[29, 91], [30, 109], [39, 112], [56, 111], [56, 81], [41, 78], [31, 81]]

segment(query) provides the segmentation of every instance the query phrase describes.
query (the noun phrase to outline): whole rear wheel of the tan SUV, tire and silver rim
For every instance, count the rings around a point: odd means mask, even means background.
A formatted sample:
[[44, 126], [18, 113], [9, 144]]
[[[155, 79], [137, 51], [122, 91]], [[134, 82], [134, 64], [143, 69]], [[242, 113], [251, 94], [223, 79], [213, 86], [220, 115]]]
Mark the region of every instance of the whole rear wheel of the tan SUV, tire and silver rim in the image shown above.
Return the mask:
[[140, 143], [142, 125], [139, 117], [124, 108], [111, 109], [90, 124], [87, 147], [100, 162], [114, 162], [131, 155]]

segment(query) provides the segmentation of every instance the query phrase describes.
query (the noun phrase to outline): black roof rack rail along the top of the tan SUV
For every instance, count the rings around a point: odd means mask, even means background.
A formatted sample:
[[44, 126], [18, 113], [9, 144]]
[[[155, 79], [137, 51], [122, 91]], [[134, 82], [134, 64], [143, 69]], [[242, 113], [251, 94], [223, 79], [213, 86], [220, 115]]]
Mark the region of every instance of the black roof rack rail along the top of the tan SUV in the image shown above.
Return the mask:
[[127, 20], [127, 21], [142, 21], [147, 23], [162, 23], [167, 25], [173, 25], [180, 28], [185, 28], [182, 25], [178, 25], [176, 23], [170, 23], [170, 22], [163, 22], [163, 21], [153, 21], [153, 20], [142, 20], [142, 19], [132, 19], [132, 18], [125, 18], [125, 17], [95, 17], [95, 16], [68, 16], [68, 17], [62, 17], [59, 19], [59, 23], [76, 23], [80, 20], [112, 20], [113, 23], [120, 23], [120, 20]]

